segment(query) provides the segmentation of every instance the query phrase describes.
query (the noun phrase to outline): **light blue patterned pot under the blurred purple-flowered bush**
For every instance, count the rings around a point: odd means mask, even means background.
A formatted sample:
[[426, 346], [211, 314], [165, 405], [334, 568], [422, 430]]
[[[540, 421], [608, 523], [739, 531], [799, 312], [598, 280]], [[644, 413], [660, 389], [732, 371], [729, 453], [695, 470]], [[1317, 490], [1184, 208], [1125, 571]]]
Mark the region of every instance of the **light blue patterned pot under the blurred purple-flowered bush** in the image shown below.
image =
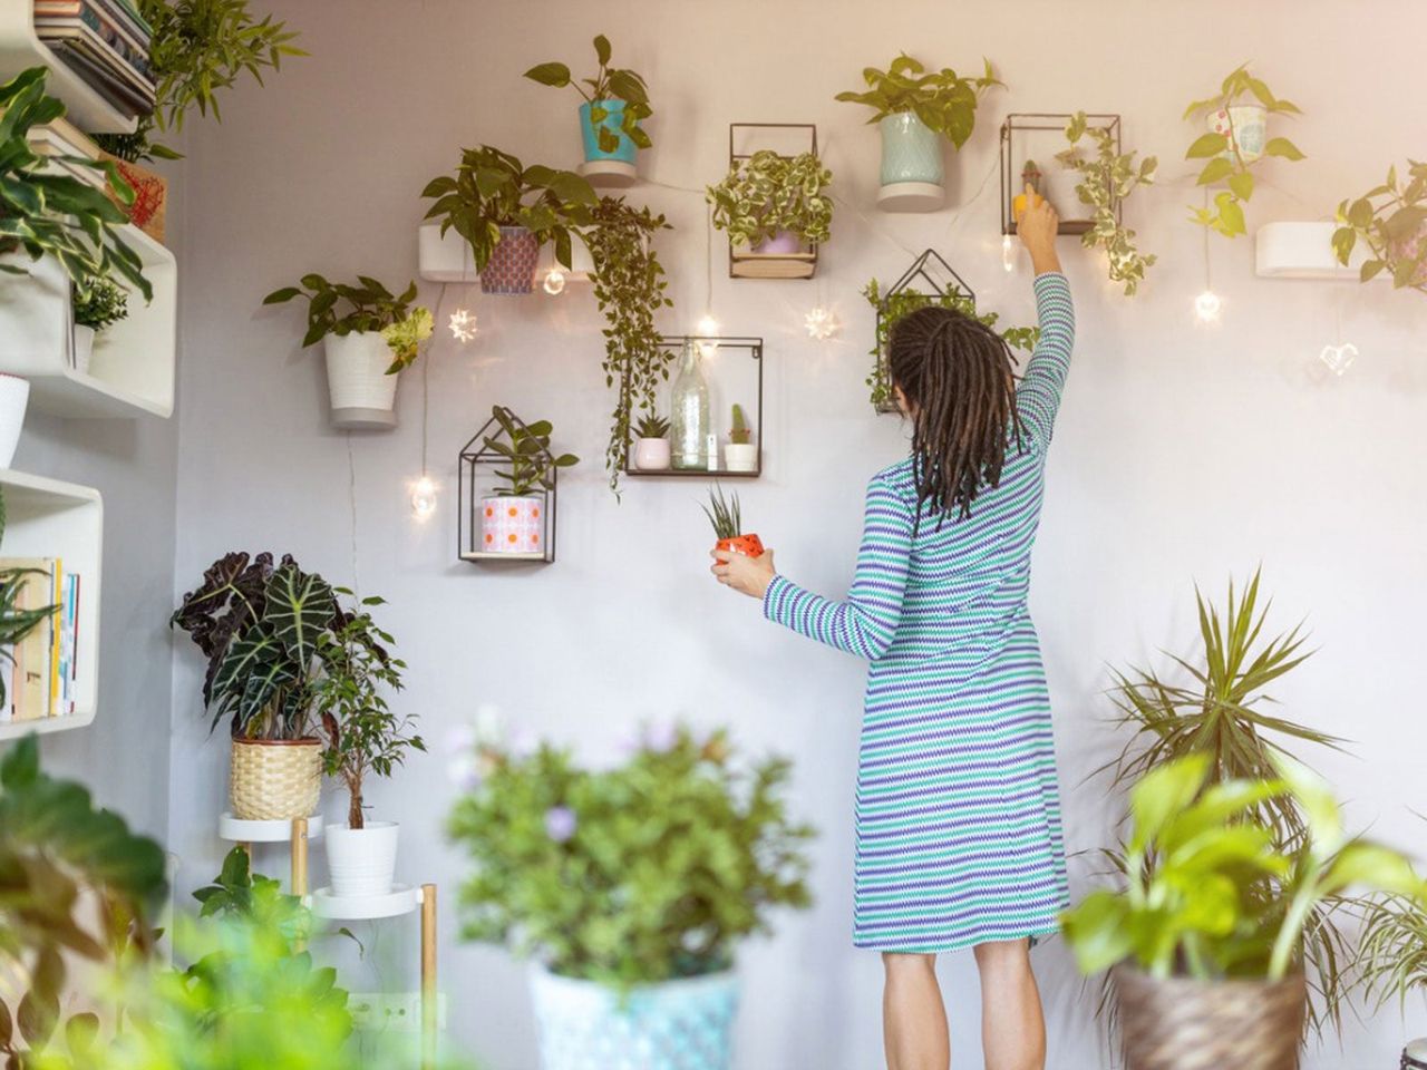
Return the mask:
[[728, 1070], [732, 973], [644, 984], [626, 1000], [601, 984], [531, 970], [542, 1070]]

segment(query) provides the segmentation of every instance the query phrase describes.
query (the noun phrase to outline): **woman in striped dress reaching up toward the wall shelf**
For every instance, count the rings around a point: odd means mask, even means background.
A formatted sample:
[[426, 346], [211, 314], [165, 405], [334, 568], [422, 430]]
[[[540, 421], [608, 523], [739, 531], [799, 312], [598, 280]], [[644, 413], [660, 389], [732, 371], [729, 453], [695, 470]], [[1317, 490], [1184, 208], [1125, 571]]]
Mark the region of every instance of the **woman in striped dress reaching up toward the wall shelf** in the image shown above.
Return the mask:
[[[1035, 200], [1035, 198], [1027, 198]], [[1046, 451], [1075, 312], [1043, 201], [1017, 227], [1040, 341], [1020, 384], [1006, 344], [949, 308], [892, 330], [888, 371], [912, 455], [868, 485], [846, 602], [715, 551], [763, 615], [868, 658], [853, 943], [882, 952], [889, 1070], [946, 1070], [936, 956], [973, 947], [987, 1070], [1045, 1066], [1030, 944], [1069, 906], [1050, 702], [1027, 609]]]

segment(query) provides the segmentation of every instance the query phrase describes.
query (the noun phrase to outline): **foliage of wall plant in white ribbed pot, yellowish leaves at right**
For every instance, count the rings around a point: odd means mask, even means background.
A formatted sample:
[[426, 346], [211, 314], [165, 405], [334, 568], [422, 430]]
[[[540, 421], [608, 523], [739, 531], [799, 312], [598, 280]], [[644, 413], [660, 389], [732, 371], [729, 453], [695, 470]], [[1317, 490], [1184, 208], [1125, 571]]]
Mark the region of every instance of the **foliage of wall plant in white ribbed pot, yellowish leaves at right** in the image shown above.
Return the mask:
[[318, 274], [303, 275], [301, 285], [274, 290], [263, 298], [265, 305], [280, 305], [294, 297], [307, 298], [307, 334], [303, 348], [320, 342], [330, 334], [344, 337], [377, 331], [391, 350], [388, 375], [415, 362], [421, 342], [431, 337], [431, 310], [412, 305], [417, 284], [410, 282], [401, 294], [392, 294], [375, 278], [357, 275], [357, 284], [328, 282]]

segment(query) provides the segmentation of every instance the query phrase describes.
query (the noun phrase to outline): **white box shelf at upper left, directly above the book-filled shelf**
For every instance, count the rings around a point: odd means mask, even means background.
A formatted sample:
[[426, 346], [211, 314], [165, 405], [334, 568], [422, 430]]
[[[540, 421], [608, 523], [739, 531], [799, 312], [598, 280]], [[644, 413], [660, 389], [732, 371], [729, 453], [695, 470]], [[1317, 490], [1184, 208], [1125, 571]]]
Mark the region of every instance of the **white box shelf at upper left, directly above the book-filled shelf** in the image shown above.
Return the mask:
[[[0, 0], [0, 4], [10, 0]], [[30, 404], [57, 417], [170, 417], [178, 337], [178, 263], [133, 225], [120, 234], [144, 261], [154, 300], [128, 297], [128, 317], [94, 340], [87, 372], [74, 367], [70, 284], [53, 257], [10, 263], [29, 274], [0, 274], [0, 371], [30, 381]]]

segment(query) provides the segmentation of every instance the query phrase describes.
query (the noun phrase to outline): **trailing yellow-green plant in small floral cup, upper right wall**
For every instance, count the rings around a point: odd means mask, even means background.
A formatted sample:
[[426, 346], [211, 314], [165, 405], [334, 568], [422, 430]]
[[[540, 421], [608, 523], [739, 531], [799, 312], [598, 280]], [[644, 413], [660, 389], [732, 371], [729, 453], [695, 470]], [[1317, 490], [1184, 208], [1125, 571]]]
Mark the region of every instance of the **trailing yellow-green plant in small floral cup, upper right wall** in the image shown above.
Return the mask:
[[1247, 234], [1243, 205], [1253, 197], [1253, 167], [1267, 157], [1301, 160], [1303, 153], [1286, 137], [1269, 137], [1269, 116], [1303, 114], [1293, 101], [1276, 97], [1249, 66], [1236, 67], [1223, 80], [1219, 93], [1196, 100], [1184, 108], [1184, 118], [1203, 114], [1209, 126], [1184, 153], [1186, 160], [1204, 160], [1199, 185], [1209, 197], [1209, 187], [1227, 188], [1214, 194], [1214, 207], [1190, 205], [1193, 220], [1226, 238]]

